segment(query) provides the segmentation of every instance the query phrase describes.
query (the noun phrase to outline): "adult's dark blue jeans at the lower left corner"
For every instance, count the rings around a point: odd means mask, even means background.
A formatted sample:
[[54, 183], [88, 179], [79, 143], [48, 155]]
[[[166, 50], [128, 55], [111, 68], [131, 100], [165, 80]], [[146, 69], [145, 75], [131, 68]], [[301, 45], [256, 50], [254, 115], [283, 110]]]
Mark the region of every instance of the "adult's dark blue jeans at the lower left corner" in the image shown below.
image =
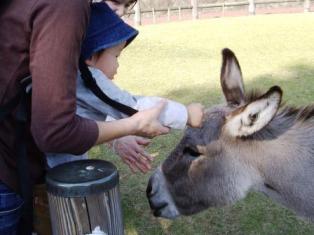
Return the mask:
[[0, 234], [15, 235], [23, 199], [0, 181]]

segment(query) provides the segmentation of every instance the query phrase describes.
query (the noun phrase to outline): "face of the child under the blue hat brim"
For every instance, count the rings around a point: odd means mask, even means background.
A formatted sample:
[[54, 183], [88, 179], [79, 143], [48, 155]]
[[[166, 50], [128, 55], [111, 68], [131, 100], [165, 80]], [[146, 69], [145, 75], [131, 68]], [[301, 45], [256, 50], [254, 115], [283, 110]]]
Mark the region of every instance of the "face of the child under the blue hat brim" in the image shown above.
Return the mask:
[[125, 43], [126, 42], [123, 42], [117, 46], [105, 49], [98, 54], [97, 57], [93, 56], [91, 65], [101, 70], [110, 80], [112, 80], [117, 74], [119, 68], [118, 57], [125, 47]]

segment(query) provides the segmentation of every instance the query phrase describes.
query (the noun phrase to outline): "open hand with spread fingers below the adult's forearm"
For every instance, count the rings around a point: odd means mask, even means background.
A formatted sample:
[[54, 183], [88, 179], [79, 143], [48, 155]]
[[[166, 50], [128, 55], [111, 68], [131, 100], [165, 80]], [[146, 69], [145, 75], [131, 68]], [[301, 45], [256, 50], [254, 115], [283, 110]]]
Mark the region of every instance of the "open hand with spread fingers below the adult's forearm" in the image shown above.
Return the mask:
[[125, 136], [114, 140], [112, 147], [133, 173], [138, 170], [147, 173], [153, 161], [153, 157], [145, 151], [145, 147], [149, 144], [150, 140], [146, 138]]

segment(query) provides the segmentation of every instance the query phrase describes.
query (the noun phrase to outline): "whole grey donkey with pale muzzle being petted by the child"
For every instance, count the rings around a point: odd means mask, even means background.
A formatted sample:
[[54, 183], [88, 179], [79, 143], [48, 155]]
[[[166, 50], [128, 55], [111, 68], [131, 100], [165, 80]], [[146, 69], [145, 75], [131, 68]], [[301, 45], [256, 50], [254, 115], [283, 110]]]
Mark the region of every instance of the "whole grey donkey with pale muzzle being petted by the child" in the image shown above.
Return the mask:
[[202, 128], [188, 128], [151, 176], [154, 215], [190, 215], [255, 190], [313, 220], [314, 107], [280, 105], [277, 86], [245, 94], [237, 58], [222, 54], [226, 104], [208, 109]]

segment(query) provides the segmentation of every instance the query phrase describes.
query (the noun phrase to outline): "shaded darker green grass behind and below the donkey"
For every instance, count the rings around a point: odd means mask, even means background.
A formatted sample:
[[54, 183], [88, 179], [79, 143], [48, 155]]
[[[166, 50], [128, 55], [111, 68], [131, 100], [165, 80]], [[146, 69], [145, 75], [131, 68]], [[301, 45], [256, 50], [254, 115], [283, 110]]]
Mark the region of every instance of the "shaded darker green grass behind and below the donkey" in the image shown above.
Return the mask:
[[[246, 90], [267, 91], [279, 85], [283, 100], [292, 105], [314, 101], [314, 65], [294, 64], [282, 73], [264, 74], [245, 81]], [[245, 74], [244, 74], [245, 76]], [[217, 75], [217, 79], [219, 75]], [[193, 86], [163, 94], [183, 103], [202, 102], [207, 107], [222, 103], [220, 87]], [[180, 134], [158, 137], [151, 150], [158, 152], [159, 164], [178, 142]], [[132, 178], [133, 177], [133, 178]], [[234, 206], [210, 208], [198, 215], [168, 221], [154, 218], [149, 212], [145, 188], [149, 176], [127, 176], [122, 180], [126, 234], [314, 234], [314, 225], [298, 219], [291, 211], [260, 194], [251, 193]], [[146, 200], [146, 201], [145, 201]]]

